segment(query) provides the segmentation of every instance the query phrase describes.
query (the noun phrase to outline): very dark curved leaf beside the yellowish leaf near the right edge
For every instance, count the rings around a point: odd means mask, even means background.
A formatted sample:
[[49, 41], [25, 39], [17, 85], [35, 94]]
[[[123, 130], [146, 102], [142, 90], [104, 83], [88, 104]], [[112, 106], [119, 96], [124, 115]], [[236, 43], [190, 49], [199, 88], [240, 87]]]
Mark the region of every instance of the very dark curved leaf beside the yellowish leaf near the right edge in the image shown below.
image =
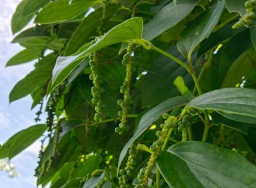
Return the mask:
[[243, 52], [252, 47], [249, 30], [245, 30], [236, 34], [231, 40], [224, 46], [220, 58], [218, 58], [219, 64], [219, 80], [220, 83], [226, 77], [226, 73], [234, 60], [238, 58]]

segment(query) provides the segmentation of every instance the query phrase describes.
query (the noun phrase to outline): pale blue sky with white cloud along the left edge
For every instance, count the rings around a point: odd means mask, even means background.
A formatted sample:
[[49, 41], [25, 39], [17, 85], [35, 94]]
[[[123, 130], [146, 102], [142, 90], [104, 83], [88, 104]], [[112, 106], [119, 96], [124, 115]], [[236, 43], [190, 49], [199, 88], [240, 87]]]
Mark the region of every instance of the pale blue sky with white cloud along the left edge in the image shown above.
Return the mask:
[[[9, 92], [20, 79], [24, 78], [33, 69], [34, 62], [5, 68], [11, 56], [22, 50], [18, 44], [11, 44], [11, 15], [21, 0], [1, 0], [0, 6], [0, 143], [3, 144], [10, 136], [34, 125], [35, 113], [38, 107], [30, 111], [32, 99], [24, 97], [9, 105]], [[30, 24], [31, 26], [31, 24]], [[15, 156], [13, 162], [20, 177], [9, 179], [6, 174], [0, 173], [1, 188], [35, 188], [37, 155], [40, 149], [40, 140]]]

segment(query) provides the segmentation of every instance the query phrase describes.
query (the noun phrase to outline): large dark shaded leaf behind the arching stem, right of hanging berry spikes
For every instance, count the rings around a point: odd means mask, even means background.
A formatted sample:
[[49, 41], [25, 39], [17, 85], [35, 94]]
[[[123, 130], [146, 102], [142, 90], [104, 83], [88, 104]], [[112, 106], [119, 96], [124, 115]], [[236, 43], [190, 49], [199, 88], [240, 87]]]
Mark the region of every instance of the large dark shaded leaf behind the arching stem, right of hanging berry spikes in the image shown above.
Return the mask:
[[[176, 46], [166, 50], [166, 52], [186, 62], [186, 58], [181, 55]], [[193, 54], [193, 62], [195, 62], [195, 58], [196, 54]], [[156, 105], [170, 97], [176, 96], [179, 90], [173, 85], [173, 82], [179, 76], [183, 77], [188, 87], [194, 84], [191, 75], [187, 73], [183, 66], [166, 56], [160, 56], [143, 80], [141, 86], [142, 107]]]

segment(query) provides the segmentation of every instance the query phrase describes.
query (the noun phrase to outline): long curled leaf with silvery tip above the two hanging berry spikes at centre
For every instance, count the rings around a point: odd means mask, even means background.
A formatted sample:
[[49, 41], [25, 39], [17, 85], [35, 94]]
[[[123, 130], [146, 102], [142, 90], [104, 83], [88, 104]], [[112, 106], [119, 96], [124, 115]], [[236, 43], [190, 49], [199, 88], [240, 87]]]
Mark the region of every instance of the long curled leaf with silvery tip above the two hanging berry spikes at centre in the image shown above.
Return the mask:
[[73, 69], [75, 69], [75, 67], [77, 67], [78, 64], [80, 64], [86, 56], [96, 50], [100, 50], [101, 48], [125, 40], [140, 40], [142, 25], [143, 23], [140, 17], [128, 19], [127, 21], [110, 30], [94, 45], [90, 46], [90, 44], [86, 44], [86, 46], [82, 46], [80, 49], [83, 49], [84, 52], [81, 54], [77, 54], [75, 56], [59, 57], [53, 70], [53, 83], [59, 83], [60, 80], [63, 81], [65, 78], [67, 78], [71, 71], [73, 71]]

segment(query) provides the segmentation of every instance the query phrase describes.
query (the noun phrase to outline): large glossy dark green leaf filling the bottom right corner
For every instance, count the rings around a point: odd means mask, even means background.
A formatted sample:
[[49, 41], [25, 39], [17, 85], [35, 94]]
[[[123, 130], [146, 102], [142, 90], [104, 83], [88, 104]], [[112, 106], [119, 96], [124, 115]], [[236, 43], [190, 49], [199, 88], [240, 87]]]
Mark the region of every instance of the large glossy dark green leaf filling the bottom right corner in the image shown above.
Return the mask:
[[173, 188], [256, 187], [256, 167], [232, 150], [205, 142], [181, 142], [168, 152], [162, 152], [157, 164]]

